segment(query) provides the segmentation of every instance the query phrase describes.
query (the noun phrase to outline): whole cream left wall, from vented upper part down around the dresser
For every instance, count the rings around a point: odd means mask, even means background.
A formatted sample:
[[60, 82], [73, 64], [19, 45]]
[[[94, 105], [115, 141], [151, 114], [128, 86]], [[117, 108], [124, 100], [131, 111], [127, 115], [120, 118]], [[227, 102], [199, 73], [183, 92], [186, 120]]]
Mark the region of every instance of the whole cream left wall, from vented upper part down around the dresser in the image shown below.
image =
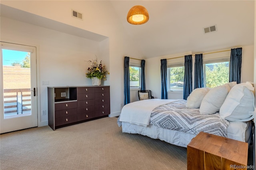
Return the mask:
[[[124, 56], [141, 58], [142, 54], [133, 46], [130, 37], [126, 36], [126, 32], [124, 32], [124, 28], [118, 21], [114, 10], [111, 10], [113, 7], [110, 2], [1, 1], [1, 4], [109, 37], [98, 43], [52, 30], [49, 30], [51, 33], [48, 33], [48, 31], [43, 30], [41, 27], [29, 29], [29, 33], [25, 29], [18, 30], [20, 27], [18, 25], [15, 28], [9, 27], [8, 31], [7, 29], [2, 30], [2, 26], [9, 23], [1, 23], [1, 39], [5, 38], [11, 42], [19, 41], [20, 43], [36, 44], [39, 46], [40, 82], [49, 80], [51, 86], [90, 85], [84, 83], [86, 80], [84, 78], [86, 71], [84, 60], [87, 57], [94, 57], [94, 54], [102, 57], [108, 71], [110, 71], [110, 75], [108, 75], [108, 79], [104, 83], [105, 85], [110, 85], [110, 116], [120, 114], [122, 109], [120, 103], [122, 105], [124, 103]], [[71, 9], [83, 13], [84, 20], [72, 17]], [[95, 12], [97, 12], [97, 15], [95, 15]], [[24, 25], [24, 28], [31, 26], [26, 26], [25, 23], [19, 24]], [[14, 32], [13, 35], [12, 32]], [[57, 43], [59, 43], [57, 46], [52, 46]], [[76, 45], [72, 45], [73, 43]], [[72, 71], [63, 69], [63, 65], [69, 65]], [[55, 77], [57, 78], [55, 79]], [[47, 110], [47, 91], [44, 86], [42, 86], [40, 95], [41, 110]], [[40, 122], [46, 120], [47, 117], [42, 117]], [[45, 123], [39, 123], [39, 126], [41, 125], [45, 125]]]

